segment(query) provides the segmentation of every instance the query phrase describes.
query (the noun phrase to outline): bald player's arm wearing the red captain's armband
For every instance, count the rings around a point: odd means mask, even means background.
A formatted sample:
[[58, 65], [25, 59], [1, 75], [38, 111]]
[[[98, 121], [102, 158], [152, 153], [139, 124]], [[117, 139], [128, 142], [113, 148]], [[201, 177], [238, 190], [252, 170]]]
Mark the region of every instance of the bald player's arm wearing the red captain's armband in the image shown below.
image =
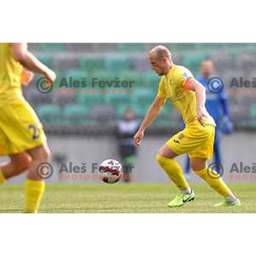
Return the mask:
[[197, 105], [197, 118], [201, 125], [205, 125], [204, 116], [205, 113], [205, 87], [200, 84], [195, 78], [190, 77], [186, 80], [184, 87], [186, 90], [192, 90], [196, 95], [196, 105]]

